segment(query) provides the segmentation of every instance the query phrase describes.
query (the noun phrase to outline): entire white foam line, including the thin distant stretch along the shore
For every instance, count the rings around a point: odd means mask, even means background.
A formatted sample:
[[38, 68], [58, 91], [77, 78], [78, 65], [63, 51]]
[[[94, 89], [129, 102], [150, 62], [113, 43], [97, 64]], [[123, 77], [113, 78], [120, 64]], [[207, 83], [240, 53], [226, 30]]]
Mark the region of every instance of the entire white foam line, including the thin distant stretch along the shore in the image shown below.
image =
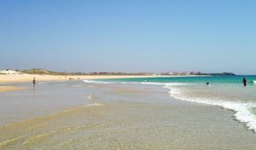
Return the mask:
[[[178, 89], [179, 85], [189, 85], [183, 83], [153, 83], [153, 82], [102, 82], [102, 81], [93, 81], [93, 80], [84, 80], [85, 83], [94, 83], [94, 84], [150, 84], [150, 85], [163, 85], [163, 88], [170, 89], [169, 94], [181, 101], [191, 101], [201, 104], [207, 104], [217, 107], [223, 107], [230, 109], [235, 112], [234, 117], [241, 123], [246, 123], [246, 126], [249, 130], [256, 132], [256, 116], [250, 112], [253, 107], [256, 107], [256, 103], [246, 103], [241, 101], [223, 101], [218, 99], [209, 99], [209, 98], [191, 98], [182, 94], [182, 90]], [[256, 81], [253, 81], [253, 84], [256, 84]]]

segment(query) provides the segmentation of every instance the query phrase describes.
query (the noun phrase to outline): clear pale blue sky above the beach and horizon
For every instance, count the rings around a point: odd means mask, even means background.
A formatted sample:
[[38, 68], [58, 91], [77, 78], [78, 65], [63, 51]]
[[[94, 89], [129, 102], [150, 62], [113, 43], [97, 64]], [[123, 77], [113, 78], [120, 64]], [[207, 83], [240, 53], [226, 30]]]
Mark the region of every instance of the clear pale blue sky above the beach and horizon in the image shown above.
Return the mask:
[[0, 0], [0, 68], [256, 74], [254, 0]]

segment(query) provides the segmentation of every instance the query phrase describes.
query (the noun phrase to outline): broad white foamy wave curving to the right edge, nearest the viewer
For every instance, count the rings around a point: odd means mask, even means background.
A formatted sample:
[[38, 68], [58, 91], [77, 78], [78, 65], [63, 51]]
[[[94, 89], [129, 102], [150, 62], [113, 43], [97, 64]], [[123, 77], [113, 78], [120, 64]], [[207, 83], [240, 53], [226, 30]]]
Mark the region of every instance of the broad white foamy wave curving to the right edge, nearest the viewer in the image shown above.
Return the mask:
[[223, 107], [226, 109], [233, 110], [235, 112], [234, 117], [241, 123], [246, 123], [249, 130], [254, 130], [256, 132], [256, 116], [251, 113], [253, 107], [256, 107], [256, 103], [241, 102], [241, 101], [224, 101], [218, 99], [210, 98], [191, 98], [187, 95], [183, 95], [183, 90], [177, 87], [164, 86], [167, 89], [171, 89], [169, 94], [182, 101], [191, 101], [201, 104], [213, 105], [218, 107]]

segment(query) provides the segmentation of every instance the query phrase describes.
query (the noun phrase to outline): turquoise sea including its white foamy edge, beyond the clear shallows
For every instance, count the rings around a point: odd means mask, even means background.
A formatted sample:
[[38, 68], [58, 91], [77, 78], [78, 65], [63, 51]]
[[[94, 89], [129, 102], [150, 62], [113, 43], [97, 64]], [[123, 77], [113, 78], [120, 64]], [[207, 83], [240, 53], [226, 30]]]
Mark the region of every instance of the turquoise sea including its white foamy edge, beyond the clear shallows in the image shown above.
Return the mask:
[[[247, 78], [247, 87], [242, 78]], [[119, 78], [84, 80], [96, 84], [154, 84], [181, 101], [197, 102], [233, 110], [234, 117], [256, 131], [256, 76], [209, 76], [172, 78]], [[206, 83], [210, 85], [207, 86]], [[157, 101], [157, 100], [156, 100]]]

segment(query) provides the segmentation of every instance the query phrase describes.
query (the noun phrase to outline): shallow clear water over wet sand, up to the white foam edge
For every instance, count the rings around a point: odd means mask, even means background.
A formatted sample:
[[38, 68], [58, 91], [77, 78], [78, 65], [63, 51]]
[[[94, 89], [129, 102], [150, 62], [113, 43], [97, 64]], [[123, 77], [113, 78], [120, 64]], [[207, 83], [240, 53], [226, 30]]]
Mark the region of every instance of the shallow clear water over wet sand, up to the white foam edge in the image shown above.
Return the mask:
[[[22, 114], [25, 108], [31, 115], [2, 124], [0, 148], [255, 149], [256, 134], [236, 122], [233, 112], [178, 101], [167, 92], [153, 85], [71, 82], [6, 93], [0, 106], [26, 102], [2, 116]], [[44, 111], [32, 115], [40, 106]]]

